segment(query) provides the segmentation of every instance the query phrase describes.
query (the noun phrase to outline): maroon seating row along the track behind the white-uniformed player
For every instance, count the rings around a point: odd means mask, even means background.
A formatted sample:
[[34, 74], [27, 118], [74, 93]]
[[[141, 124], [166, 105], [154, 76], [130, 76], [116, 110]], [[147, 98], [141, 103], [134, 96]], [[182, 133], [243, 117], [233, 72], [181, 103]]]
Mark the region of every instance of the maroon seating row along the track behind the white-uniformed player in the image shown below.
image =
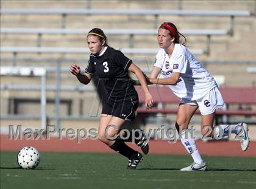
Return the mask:
[[[140, 114], [177, 114], [177, 108], [166, 108], [168, 104], [177, 104], [180, 98], [176, 97], [167, 86], [150, 88], [151, 94], [154, 96], [154, 102], [157, 108], [146, 109], [138, 108]], [[220, 88], [221, 95], [227, 105], [226, 110], [216, 111], [216, 115], [243, 115], [255, 116], [254, 109], [230, 109], [232, 105], [256, 105], [256, 89], [255, 88]], [[140, 103], [144, 103], [144, 95], [140, 87], [137, 87], [137, 92], [140, 98]], [[162, 107], [162, 108], [160, 108]], [[196, 111], [196, 114], [200, 114]], [[227, 120], [229, 122], [229, 120]]]

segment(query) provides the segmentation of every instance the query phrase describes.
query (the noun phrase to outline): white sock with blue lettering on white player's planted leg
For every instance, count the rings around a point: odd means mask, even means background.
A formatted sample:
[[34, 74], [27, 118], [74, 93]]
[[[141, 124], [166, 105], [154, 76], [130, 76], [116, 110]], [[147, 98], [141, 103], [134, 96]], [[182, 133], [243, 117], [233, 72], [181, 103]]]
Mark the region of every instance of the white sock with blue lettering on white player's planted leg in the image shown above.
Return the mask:
[[193, 157], [194, 162], [202, 165], [202, 162], [204, 162], [204, 160], [202, 160], [202, 157], [197, 149], [196, 142], [194, 141], [194, 139], [191, 138], [191, 134], [190, 132], [188, 132], [188, 130], [182, 131], [181, 142], [183, 146], [185, 146], [185, 148], [187, 149], [188, 153], [190, 153], [191, 156]]

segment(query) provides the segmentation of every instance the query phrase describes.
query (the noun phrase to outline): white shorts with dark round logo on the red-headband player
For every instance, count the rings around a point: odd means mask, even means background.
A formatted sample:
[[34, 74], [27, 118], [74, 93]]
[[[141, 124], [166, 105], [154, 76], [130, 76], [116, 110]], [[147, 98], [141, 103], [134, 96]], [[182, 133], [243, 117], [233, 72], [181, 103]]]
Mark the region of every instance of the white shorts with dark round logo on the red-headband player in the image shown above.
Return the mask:
[[212, 114], [216, 109], [226, 109], [226, 104], [221, 96], [221, 92], [217, 87], [211, 89], [204, 97], [197, 100], [188, 100], [182, 98], [180, 103], [185, 105], [198, 105], [202, 115]]

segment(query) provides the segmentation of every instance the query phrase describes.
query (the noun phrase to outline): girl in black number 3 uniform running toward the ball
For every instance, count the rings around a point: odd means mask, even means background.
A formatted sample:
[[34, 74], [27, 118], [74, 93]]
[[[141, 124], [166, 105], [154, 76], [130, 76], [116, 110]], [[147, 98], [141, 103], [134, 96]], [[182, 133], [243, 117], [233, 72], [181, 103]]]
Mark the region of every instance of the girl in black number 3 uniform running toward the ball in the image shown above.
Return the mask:
[[[138, 108], [138, 94], [133, 87], [133, 82], [128, 72], [133, 72], [144, 91], [146, 106], [153, 106], [153, 98], [149, 92], [146, 79], [141, 70], [132, 63], [121, 51], [109, 47], [107, 36], [101, 29], [95, 28], [88, 32], [88, 47], [91, 51], [90, 60], [88, 61], [85, 73], [80, 73], [80, 67], [72, 64], [70, 72], [76, 75], [77, 79], [84, 84], [88, 84], [93, 74], [97, 74], [99, 80], [104, 82], [107, 89], [101, 118], [99, 120], [98, 139], [107, 144], [116, 152], [126, 156], [129, 159], [127, 169], [135, 169], [143, 159], [142, 154], [130, 148], [124, 142], [132, 142], [132, 135], [123, 140], [112, 137], [119, 134], [121, 126], [126, 120], [135, 119], [135, 111]], [[143, 132], [135, 132], [135, 136], [140, 139], [134, 140], [142, 149], [144, 154], [148, 154], [149, 146], [146, 136]]]

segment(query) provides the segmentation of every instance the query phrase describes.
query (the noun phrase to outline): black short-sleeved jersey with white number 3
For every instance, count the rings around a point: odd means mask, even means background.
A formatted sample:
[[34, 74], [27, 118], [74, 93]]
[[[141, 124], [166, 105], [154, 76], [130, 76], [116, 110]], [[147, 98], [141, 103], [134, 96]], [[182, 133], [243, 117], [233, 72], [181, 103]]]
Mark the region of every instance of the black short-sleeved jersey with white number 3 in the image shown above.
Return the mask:
[[108, 98], [120, 99], [137, 94], [127, 70], [132, 60], [119, 50], [104, 48], [100, 55], [90, 55], [85, 72], [90, 75], [97, 74], [99, 80], [103, 80]]

